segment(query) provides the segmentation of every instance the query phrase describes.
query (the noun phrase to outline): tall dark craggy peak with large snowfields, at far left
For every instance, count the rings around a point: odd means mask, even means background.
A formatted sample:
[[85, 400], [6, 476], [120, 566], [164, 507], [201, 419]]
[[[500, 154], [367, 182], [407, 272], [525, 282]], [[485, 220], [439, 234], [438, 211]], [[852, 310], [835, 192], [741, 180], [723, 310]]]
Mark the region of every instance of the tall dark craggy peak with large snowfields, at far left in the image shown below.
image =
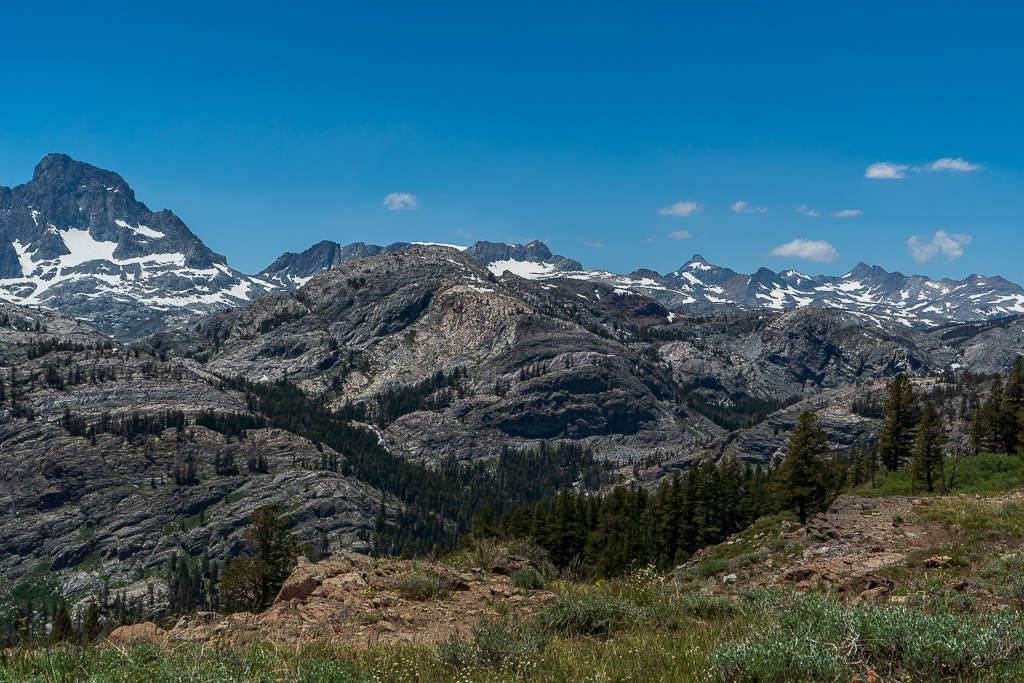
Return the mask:
[[146, 208], [117, 173], [54, 154], [29, 182], [0, 186], [0, 298], [128, 339], [268, 289], [170, 211]]

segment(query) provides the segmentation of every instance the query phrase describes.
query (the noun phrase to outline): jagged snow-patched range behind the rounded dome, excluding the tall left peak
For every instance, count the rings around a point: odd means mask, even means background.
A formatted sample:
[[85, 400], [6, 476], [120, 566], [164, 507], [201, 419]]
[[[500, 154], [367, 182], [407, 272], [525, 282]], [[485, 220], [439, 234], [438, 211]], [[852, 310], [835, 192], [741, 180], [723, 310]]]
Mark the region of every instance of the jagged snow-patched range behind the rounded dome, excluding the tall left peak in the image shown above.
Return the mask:
[[[401, 242], [387, 247], [355, 243], [341, 247], [322, 242], [302, 254], [285, 254], [259, 276], [291, 290], [348, 258], [404, 251], [423, 244], [427, 243]], [[584, 269], [578, 261], [552, 254], [545, 244], [537, 241], [528, 245], [477, 242], [471, 247], [455, 248], [487, 266], [496, 275], [508, 271], [528, 280], [568, 278], [600, 282], [622, 293], [648, 296], [670, 310], [697, 315], [814, 305], [844, 310], [882, 327], [928, 328], [952, 321], [1024, 313], [1024, 289], [998, 276], [934, 281], [864, 263], [858, 263], [842, 276], [812, 276], [797, 270], [775, 272], [768, 268], [748, 275], [713, 265], [699, 255], [664, 275], [647, 269], [624, 275]]]

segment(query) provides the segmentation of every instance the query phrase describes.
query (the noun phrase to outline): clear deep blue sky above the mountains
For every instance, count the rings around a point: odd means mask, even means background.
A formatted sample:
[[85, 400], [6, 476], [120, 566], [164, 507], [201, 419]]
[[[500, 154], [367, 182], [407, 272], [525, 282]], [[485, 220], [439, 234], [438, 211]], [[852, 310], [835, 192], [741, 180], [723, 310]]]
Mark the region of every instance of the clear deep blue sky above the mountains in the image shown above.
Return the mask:
[[4, 10], [0, 184], [70, 154], [245, 271], [536, 238], [1024, 282], [1016, 3], [41, 4]]

